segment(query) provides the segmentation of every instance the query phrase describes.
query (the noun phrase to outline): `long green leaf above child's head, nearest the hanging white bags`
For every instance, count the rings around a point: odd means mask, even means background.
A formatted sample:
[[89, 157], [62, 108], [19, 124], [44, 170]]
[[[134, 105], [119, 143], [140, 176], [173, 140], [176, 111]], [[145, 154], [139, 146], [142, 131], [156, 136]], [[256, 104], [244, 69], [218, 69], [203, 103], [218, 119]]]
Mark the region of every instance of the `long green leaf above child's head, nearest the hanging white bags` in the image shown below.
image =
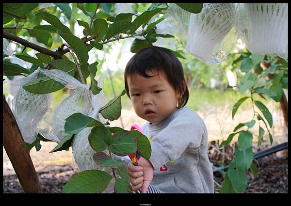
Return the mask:
[[133, 20], [133, 24], [135, 24], [135, 27], [130, 30], [130, 32], [135, 32], [142, 24], [147, 23], [151, 17], [155, 16], [156, 14], [160, 13], [162, 10], [166, 9], [167, 7], [162, 5], [162, 6], [156, 6], [150, 11], [145, 11], [142, 13], [140, 16], [137, 16]]

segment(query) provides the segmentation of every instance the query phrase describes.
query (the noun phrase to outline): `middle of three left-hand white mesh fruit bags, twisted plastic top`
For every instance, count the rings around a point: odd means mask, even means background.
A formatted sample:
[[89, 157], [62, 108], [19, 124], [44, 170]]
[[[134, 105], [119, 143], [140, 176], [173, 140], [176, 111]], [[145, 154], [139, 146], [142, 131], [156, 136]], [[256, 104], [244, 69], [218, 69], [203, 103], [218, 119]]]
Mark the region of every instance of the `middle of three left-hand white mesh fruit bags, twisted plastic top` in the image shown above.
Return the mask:
[[[66, 97], [56, 108], [50, 123], [42, 121], [41, 124], [38, 125], [39, 133], [46, 139], [59, 143], [68, 135], [64, 127], [67, 117], [78, 112], [88, 115], [93, 111], [91, 104], [92, 92], [89, 90], [90, 85], [82, 84], [77, 79], [61, 70], [42, 70], [41, 73], [62, 83], [68, 89], [75, 89], [74, 92]], [[44, 125], [46, 127], [44, 127]]]

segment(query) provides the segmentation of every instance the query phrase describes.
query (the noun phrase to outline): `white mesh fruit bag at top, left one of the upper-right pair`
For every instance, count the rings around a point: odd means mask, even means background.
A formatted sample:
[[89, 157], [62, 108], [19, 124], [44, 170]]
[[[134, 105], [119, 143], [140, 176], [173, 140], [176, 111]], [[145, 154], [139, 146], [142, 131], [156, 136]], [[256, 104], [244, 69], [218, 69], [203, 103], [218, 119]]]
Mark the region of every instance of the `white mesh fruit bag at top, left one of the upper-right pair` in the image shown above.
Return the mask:
[[173, 3], [164, 15], [186, 50], [206, 63], [220, 63], [234, 48], [234, 16], [233, 3], [204, 3], [198, 14]]

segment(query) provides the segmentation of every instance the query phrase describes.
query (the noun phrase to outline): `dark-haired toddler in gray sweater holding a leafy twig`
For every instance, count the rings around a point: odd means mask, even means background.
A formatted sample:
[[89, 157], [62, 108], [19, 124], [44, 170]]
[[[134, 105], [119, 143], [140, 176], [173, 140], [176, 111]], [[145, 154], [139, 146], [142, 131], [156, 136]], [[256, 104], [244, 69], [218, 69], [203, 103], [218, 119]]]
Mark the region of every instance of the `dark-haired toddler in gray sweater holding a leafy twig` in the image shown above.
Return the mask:
[[189, 91], [178, 58], [164, 48], [142, 49], [127, 63], [125, 89], [136, 114], [147, 121], [143, 131], [152, 148], [149, 160], [128, 164], [132, 190], [213, 193], [207, 129], [185, 107]]

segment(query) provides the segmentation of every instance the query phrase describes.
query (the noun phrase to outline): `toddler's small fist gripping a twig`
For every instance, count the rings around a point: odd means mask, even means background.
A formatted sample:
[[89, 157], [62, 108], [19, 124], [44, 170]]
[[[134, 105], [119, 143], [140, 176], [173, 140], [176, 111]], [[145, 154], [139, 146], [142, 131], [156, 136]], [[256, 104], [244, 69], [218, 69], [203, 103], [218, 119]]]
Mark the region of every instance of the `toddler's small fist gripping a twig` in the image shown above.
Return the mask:
[[154, 169], [148, 160], [140, 158], [138, 166], [134, 166], [132, 162], [129, 162], [128, 174], [132, 190], [136, 191], [142, 188], [142, 193], [146, 193], [146, 190], [153, 179]]

